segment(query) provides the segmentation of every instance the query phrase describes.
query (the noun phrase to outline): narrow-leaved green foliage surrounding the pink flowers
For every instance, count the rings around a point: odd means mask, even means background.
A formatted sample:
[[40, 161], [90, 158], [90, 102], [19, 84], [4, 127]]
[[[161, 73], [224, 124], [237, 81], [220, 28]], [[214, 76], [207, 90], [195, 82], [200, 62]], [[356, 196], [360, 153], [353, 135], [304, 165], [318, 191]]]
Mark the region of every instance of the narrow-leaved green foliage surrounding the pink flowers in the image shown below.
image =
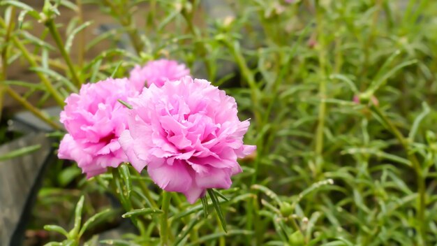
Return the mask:
[[[241, 161], [244, 173], [221, 191], [227, 200], [213, 195], [227, 233], [217, 213], [203, 215], [211, 201], [189, 205], [167, 194], [163, 212], [165, 196], [124, 166], [78, 184], [84, 194], [112, 185], [138, 229], [103, 243], [151, 245], [168, 227], [169, 245], [436, 244], [437, 2], [229, 2], [234, 15], [222, 18], [198, 0], [57, 0], [42, 10], [0, 2], [0, 98], [7, 93], [54, 127], [57, 120], [39, 107], [47, 99], [63, 106], [82, 83], [124, 77], [133, 64], [163, 56], [225, 88], [240, 117], [251, 117], [246, 142], [257, 154]], [[93, 27], [82, 15], [89, 6], [119, 25], [84, 43]], [[66, 8], [76, 15], [59, 27]], [[30, 34], [41, 24], [42, 34]], [[84, 58], [103, 42], [110, 48]], [[18, 61], [38, 83], [8, 80]], [[35, 92], [44, 94], [38, 106], [27, 101]], [[77, 210], [73, 231], [47, 229], [92, 245], [96, 237], [77, 233], [87, 228]]]

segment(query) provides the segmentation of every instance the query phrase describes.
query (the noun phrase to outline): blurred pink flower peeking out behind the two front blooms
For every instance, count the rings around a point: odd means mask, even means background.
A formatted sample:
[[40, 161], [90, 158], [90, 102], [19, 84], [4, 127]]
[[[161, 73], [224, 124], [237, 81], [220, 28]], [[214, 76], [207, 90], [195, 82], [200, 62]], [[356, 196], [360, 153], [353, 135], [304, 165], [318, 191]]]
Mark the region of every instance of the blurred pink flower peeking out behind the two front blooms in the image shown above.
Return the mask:
[[186, 75], [190, 75], [190, 69], [185, 64], [178, 64], [177, 61], [168, 59], [158, 59], [149, 61], [143, 67], [136, 65], [131, 71], [129, 80], [139, 92], [145, 87], [154, 84], [157, 87], [164, 85], [165, 81], [179, 80]]

